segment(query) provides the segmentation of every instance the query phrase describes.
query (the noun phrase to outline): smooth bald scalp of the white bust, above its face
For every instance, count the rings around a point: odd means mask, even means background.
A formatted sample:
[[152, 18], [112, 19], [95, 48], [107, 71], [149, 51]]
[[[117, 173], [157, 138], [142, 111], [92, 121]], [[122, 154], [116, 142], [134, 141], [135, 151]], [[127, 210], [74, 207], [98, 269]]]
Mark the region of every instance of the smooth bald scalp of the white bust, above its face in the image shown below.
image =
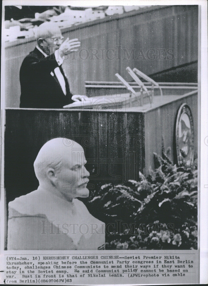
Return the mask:
[[77, 142], [67, 138], [49, 140], [41, 147], [35, 159], [35, 175], [39, 181], [45, 180], [49, 168], [58, 172], [64, 164], [73, 166], [77, 156], [84, 156], [84, 150]]

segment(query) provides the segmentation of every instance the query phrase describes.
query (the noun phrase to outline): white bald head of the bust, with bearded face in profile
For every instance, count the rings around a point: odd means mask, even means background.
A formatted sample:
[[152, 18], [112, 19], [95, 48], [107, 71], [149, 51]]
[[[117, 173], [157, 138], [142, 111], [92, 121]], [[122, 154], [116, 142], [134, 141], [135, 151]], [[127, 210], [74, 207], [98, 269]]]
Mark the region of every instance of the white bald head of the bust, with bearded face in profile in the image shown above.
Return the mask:
[[67, 200], [86, 197], [89, 172], [82, 146], [67, 138], [54, 138], [40, 149], [34, 170], [40, 186]]

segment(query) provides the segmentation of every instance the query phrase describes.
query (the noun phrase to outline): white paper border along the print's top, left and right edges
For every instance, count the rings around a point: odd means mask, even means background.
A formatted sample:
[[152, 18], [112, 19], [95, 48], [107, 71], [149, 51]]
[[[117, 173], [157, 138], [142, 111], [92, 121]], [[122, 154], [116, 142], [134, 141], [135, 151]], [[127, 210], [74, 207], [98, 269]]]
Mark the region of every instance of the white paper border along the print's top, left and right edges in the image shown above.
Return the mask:
[[[18, 3], [19, 2], [19, 3]], [[97, 5], [201, 5], [201, 42], [199, 33], [199, 63], [201, 53], [201, 69], [199, 65], [198, 74], [201, 81], [201, 122], [199, 121], [199, 128], [201, 127], [201, 137], [199, 136], [199, 146], [201, 154], [199, 154], [200, 162], [200, 283], [208, 283], [208, 83], [207, 83], [207, 1], [206, 0], [76, 0], [76, 1], [63, 1], [63, 0], [3, 0], [4, 5], [73, 5], [73, 6], [97, 6]], [[199, 9], [200, 11], [200, 9]], [[3, 8], [2, 8], [3, 13]], [[200, 17], [199, 17], [200, 18]], [[3, 19], [3, 18], [2, 18]], [[200, 24], [200, 21], [199, 21]], [[3, 25], [2, 25], [3, 26]], [[3, 32], [3, 27], [2, 27]], [[2, 33], [3, 34], [3, 33]], [[4, 134], [5, 124], [5, 100], [4, 100], [4, 42], [1, 47], [1, 134]], [[200, 50], [201, 47], [201, 50]], [[201, 78], [200, 78], [201, 71]], [[199, 87], [200, 92], [200, 87]], [[199, 112], [200, 114], [200, 112]], [[1, 145], [1, 182], [4, 182], [4, 146]], [[1, 183], [2, 184], [2, 183]], [[5, 204], [4, 188], [1, 186], [1, 206]], [[1, 208], [1, 217], [4, 213]], [[1, 219], [1, 230], [4, 229], [4, 220]], [[1, 232], [1, 238], [4, 233]], [[4, 242], [0, 249], [2, 250]], [[1, 252], [1, 255], [3, 253]], [[0, 258], [1, 258], [0, 255]], [[1, 270], [1, 269], [0, 269]]]

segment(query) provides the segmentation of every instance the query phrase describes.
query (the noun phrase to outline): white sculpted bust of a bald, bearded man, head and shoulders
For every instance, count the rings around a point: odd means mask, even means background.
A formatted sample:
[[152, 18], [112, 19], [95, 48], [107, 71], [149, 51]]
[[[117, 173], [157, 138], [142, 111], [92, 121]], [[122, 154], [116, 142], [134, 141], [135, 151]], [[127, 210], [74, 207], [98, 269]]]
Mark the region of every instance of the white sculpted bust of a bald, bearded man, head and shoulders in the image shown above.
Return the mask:
[[9, 202], [8, 250], [103, 249], [105, 224], [83, 202], [84, 150], [66, 138], [46, 142], [34, 162], [37, 190]]

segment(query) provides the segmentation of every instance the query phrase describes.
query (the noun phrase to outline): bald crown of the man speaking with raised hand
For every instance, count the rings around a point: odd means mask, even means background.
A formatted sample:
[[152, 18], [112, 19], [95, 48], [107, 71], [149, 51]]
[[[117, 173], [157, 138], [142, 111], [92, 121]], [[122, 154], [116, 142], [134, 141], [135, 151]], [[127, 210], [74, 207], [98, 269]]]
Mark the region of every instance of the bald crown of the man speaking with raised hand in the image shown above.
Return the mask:
[[61, 35], [61, 30], [56, 23], [45, 22], [37, 27], [36, 38], [50, 38], [54, 35]]

